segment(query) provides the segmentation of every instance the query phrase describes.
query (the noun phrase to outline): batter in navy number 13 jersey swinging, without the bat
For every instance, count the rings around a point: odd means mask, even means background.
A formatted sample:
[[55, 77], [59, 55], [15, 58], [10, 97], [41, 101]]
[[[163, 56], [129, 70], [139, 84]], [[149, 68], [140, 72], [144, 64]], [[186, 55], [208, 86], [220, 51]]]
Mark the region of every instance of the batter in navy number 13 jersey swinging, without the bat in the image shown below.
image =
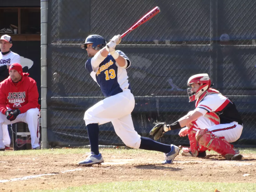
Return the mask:
[[122, 51], [115, 50], [115, 46], [120, 42], [120, 35], [114, 36], [107, 44], [102, 36], [90, 35], [81, 46], [91, 57], [86, 61], [85, 68], [100, 86], [106, 98], [85, 112], [84, 120], [90, 139], [91, 154], [78, 164], [91, 166], [103, 162], [98, 148], [98, 125], [110, 121], [126, 146], [163, 152], [165, 153], [163, 163], [172, 163], [179, 153], [179, 147], [141, 137], [134, 130], [131, 112], [135, 106], [135, 100], [126, 72], [131, 61]]

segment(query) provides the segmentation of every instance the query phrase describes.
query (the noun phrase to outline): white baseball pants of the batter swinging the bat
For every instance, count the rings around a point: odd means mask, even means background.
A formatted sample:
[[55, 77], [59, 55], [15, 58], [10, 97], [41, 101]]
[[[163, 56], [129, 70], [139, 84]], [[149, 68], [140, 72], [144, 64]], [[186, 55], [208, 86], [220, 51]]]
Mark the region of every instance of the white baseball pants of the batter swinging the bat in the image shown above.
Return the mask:
[[135, 131], [131, 112], [134, 109], [135, 100], [130, 89], [107, 97], [86, 110], [84, 120], [88, 124], [111, 123], [115, 132], [128, 147], [138, 149], [141, 144], [141, 136]]

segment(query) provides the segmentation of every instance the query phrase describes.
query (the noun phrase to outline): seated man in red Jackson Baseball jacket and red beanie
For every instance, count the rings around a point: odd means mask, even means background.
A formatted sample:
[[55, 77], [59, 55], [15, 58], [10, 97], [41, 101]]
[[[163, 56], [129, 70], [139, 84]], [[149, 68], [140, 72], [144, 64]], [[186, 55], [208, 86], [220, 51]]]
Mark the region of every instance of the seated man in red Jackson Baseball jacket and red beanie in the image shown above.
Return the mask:
[[31, 135], [32, 149], [40, 149], [38, 90], [36, 81], [22, 72], [19, 63], [9, 67], [9, 77], [0, 83], [0, 150], [4, 150], [3, 124], [25, 122]]

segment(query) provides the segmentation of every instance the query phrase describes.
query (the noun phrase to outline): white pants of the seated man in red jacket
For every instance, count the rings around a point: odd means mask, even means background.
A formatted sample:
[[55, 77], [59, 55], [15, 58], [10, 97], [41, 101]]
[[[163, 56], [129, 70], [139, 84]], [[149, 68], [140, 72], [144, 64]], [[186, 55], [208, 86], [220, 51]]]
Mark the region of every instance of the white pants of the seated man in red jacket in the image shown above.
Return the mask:
[[40, 112], [38, 108], [28, 109], [26, 113], [19, 114], [14, 121], [7, 120], [6, 115], [4, 115], [3, 113], [0, 113], [0, 149], [4, 149], [3, 124], [10, 125], [18, 122], [24, 122], [28, 124], [28, 129], [31, 136], [32, 148], [39, 147], [40, 146], [39, 117], [40, 117]]

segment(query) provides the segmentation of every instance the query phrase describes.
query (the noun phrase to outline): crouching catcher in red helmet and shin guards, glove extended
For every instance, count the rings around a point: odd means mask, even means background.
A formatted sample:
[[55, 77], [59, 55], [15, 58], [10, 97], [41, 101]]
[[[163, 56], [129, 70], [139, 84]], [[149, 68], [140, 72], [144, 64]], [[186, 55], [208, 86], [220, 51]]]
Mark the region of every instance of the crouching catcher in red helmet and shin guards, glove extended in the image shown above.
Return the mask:
[[179, 136], [188, 135], [190, 148], [184, 148], [185, 156], [205, 156], [211, 149], [225, 156], [227, 160], [240, 160], [239, 150], [230, 144], [240, 138], [243, 122], [235, 104], [219, 91], [210, 88], [209, 75], [197, 74], [189, 78], [187, 85], [189, 102], [196, 100], [195, 110], [171, 125], [159, 123], [152, 130], [158, 131], [181, 129]]

